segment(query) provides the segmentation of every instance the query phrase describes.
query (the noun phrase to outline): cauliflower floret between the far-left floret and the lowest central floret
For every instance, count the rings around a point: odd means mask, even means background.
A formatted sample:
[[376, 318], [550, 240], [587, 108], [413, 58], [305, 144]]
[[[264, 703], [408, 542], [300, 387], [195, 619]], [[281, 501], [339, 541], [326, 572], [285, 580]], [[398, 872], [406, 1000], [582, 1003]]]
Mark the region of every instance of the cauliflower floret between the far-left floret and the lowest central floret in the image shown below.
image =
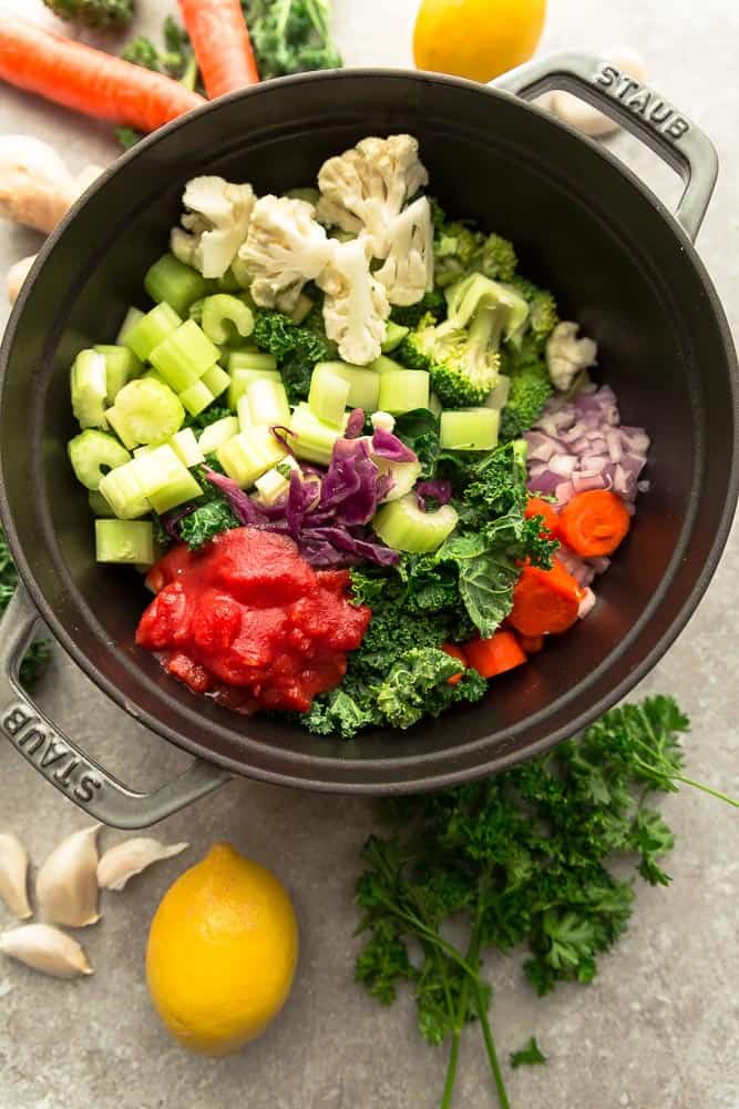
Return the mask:
[[315, 220], [312, 204], [288, 196], [261, 196], [254, 205], [238, 256], [253, 275], [252, 296], [263, 308], [291, 312], [307, 281], [314, 281], [336, 250]]

